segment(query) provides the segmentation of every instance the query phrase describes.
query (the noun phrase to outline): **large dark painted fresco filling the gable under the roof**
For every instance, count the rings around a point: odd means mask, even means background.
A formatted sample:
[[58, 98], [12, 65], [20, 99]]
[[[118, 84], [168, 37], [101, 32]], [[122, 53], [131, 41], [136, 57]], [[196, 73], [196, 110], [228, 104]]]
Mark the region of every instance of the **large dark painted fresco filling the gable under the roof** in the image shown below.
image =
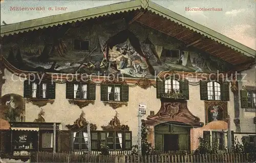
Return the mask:
[[28, 35], [16, 43], [4, 45], [2, 54], [16, 68], [36, 72], [101, 76], [111, 73], [153, 78], [161, 71], [211, 73], [217, 72], [217, 68], [220, 72], [229, 70], [227, 63], [207, 54], [184, 50], [175, 42], [168, 41], [172, 45], [169, 46], [167, 41], [154, 40], [161, 39], [156, 32], [144, 36], [145, 33], [134, 31], [135, 28], [123, 29], [113, 30], [110, 26], [102, 32], [97, 29], [91, 32], [91, 28], [81, 32], [73, 28], [63, 30], [67, 34], [57, 39], [46, 34], [35, 38]]

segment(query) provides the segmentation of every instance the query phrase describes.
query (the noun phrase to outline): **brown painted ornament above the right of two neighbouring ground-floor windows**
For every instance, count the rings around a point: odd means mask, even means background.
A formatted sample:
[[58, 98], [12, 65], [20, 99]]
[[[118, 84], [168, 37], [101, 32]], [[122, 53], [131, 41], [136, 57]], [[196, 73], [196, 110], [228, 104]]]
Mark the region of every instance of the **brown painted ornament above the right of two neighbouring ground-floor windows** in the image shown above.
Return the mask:
[[110, 121], [108, 126], [101, 126], [104, 131], [129, 131], [129, 126], [121, 125], [118, 119], [118, 113], [116, 112], [115, 117]]

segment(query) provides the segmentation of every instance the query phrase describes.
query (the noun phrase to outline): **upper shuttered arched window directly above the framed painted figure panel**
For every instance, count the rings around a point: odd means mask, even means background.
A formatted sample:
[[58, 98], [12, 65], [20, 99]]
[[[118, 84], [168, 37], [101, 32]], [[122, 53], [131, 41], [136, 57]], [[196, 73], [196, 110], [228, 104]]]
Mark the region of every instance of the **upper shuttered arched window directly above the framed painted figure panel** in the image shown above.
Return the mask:
[[229, 101], [229, 82], [200, 81], [201, 100]]

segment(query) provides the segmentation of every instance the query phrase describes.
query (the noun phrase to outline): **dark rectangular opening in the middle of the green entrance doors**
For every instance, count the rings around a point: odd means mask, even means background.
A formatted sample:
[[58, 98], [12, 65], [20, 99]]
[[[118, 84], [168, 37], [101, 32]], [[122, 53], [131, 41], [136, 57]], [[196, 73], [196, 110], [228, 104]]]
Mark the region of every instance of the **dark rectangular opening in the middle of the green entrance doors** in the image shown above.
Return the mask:
[[164, 151], [179, 150], [179, 135], [178, 134], [164, 134]]

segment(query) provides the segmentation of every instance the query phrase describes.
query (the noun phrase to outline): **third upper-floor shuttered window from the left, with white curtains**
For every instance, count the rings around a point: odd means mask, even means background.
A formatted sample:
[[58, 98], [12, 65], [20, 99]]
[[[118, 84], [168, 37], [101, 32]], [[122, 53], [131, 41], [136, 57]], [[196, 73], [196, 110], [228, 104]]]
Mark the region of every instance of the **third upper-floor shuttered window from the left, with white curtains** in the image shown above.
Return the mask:
[[101, 84], [101, 101], [129, 101], [129, 85]]

